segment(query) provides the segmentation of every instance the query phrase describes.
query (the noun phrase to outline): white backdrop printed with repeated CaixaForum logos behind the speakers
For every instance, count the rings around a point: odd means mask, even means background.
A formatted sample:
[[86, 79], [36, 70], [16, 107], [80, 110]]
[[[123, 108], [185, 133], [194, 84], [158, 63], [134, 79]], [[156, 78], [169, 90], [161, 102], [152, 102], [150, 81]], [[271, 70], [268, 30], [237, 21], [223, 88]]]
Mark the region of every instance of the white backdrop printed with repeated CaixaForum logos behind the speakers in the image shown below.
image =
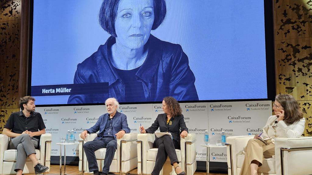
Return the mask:
[[[204, 144], [205, 130], [209, 132], [210, 144], [221, 138], [221, 130], [227, 136], [256, 135], [262, 131], [266, 120], [272, 115], [271, 101], [251, 102], [200, 102], [180, 103], [185, 123], [190, 133], [196, 133], [197, 161], [206, 161]], [[118, 111], [128, 119], [131, 132], [139, 132], [139, 125], [148, 128], [158, 114], [163, 113], [162, 104], [120, 105]], [[60, 138], [66, 138], [67, 130], [74, 130], [76, 140], [79, 134], [90, 128], [99, 116], [106, 113], [104, 105], [36, 107], [46, 125], [46, 132], [52, 134], [51, 155], [60, 155]], [[63, 149], [63, 148], [62, 148]], [[63, 152], [63, 150], [62, 150]], [[78, 145], [67, 145], [66, 156], [78, 156]], [[62, 153], [63, 154], [63, 153]], [[226, 162], [225, 148], [211, 148], [210, 161]]]

